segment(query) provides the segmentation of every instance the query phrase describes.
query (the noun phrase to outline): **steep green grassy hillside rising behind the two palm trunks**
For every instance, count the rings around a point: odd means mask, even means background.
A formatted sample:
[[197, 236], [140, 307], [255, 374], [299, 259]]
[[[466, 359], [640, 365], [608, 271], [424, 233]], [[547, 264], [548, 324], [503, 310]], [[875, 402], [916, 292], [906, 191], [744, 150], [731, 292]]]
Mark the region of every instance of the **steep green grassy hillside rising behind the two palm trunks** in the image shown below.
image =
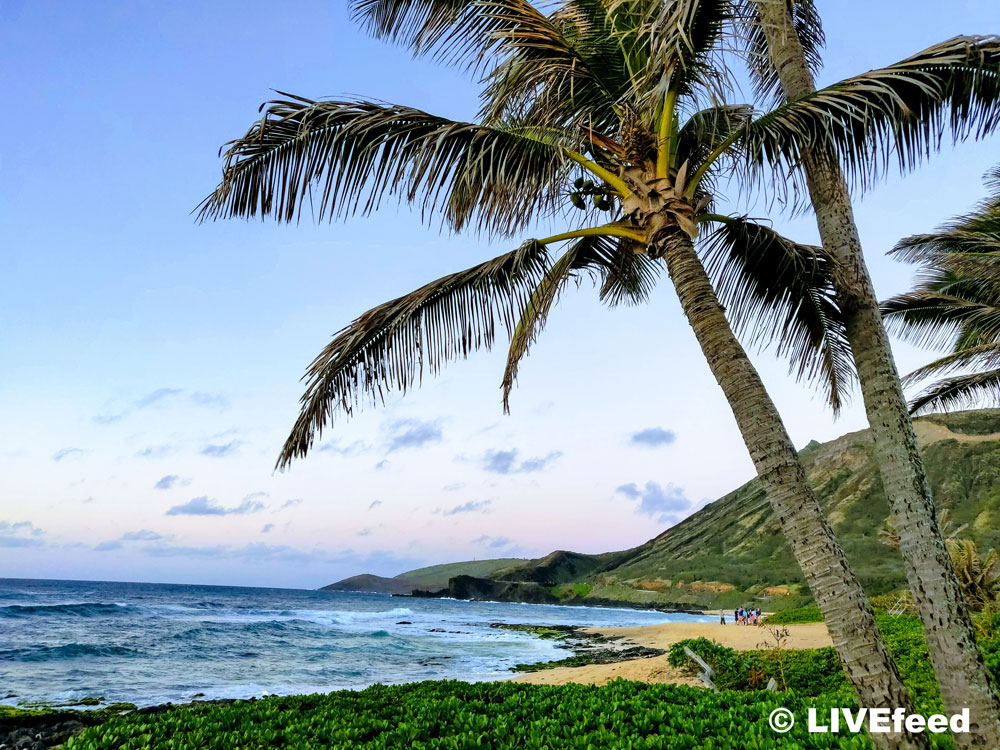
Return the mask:
[[[915, 425], [938, 508], [951, 509], [956, 524], [969, 524], [963, 536], [1000, 547], [1000, 410], [932, 415]], [[898, 552], [878, 539], [889, 510], [872, 453], [865, 430], [813, 442], [801, 455], [855, 570], [866, 589], [879, 594], [905, 579]], [[808, 599], [756, 479], [645, 544], [589, 557], [592, 570], [552, 582], [588, 584], [583, 599], [721, 607], [755, 599], [779, 609]]]

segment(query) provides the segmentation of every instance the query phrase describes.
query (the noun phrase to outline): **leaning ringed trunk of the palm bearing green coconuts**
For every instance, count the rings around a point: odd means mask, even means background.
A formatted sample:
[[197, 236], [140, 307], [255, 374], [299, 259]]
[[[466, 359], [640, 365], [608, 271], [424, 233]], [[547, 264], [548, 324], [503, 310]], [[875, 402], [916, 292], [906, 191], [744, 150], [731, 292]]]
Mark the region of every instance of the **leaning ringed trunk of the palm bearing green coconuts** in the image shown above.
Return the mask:
[[[912, 710], [861, 584], [823, 515], [777, 408], [729, 326], [691, 240], [680, 230], [667, 229], [656, 245], [858, 700], [867, 707]], [[872, 739], [885, 748], [929, 746], [922, 735], [873, 734]]]

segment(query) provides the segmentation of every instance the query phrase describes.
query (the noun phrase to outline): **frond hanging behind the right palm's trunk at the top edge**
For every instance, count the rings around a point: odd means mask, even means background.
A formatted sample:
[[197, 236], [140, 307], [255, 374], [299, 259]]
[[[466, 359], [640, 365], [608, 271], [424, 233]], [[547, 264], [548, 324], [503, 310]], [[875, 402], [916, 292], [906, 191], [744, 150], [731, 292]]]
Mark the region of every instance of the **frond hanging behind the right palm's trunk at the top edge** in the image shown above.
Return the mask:
[[[780, 0], [779, 0], [780, 1]], [[771, 64], [767, 35], [757, 11], [758, 0], [735, 0], [738, 37], [746, 54], [754, 93], [757, 100], [777, 104], [783, 99], [778, 71]], [[826, 44], [823, 24], [814, 0], [784, 0], [791, 15], [792, 26], [798, 37], [806, 63], [815, 77], [823, 67], [821, 50]]]

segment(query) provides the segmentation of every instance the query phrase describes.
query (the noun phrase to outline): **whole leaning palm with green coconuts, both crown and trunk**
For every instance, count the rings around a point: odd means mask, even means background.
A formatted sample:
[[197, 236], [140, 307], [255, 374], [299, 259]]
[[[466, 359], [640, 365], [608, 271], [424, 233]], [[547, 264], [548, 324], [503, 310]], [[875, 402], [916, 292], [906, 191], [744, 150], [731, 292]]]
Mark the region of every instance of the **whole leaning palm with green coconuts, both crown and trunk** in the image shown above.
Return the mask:
[[[665, 265], [862, 705], [909, 706], [867, 598], [695, 247], [700, 241], [737, 325], [758, 338], [781, 332], [796, 374], [822, 382], [838, 405], [851, 368], [829, 259], [746, 217], [713, 212], [720, 178], [764, 180], [772, 155], [791, 153], [799, 132], [794, 111], [758, 116], [724, 103], [717, 53], [728, 1], [565, 0], [545, 14], [525, 0], [355, 0], [354, 11], [378, 37], [482, 74], [478, 121], [284, 95], [229, 144], [202, 218], [291, 221], [307, 202], [320, 219], [334, 218], [395, 195], [456, 232], [512, 237], [537, 217], [567, 212], [587, 221], [344, 328], [309, 366], [278, 467], [304, 457], [336, 412], [377, 404], [425, 367], [435, 373], [491, 346], [498, 321], [511, 339], [506, 406], [518, 363], [572, 279], [593, 274], [604, 300], [634, 302]], [[875, 739], [926, 747], [919, 736]]]

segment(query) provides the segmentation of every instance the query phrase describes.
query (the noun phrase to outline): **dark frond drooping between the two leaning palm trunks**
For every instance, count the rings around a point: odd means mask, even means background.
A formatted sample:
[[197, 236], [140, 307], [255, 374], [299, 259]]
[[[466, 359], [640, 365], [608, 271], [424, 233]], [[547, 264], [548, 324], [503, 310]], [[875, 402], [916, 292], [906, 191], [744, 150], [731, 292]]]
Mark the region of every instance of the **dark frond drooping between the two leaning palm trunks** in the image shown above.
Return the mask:
[[706, 268], [734, 330], [760, 346], [773, 343], [791, 372], [820, 384], [838, 411], [854, 365], [829, 258], [745, 218], [718, 218], [705, 243]]

